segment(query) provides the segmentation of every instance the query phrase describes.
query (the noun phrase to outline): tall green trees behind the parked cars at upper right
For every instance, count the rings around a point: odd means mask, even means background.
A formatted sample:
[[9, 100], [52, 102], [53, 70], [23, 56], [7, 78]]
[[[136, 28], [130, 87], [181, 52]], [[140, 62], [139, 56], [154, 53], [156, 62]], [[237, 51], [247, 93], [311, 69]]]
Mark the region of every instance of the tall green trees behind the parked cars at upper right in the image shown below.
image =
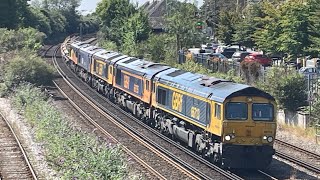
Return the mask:
[[217, 29], [219, 40], [258, 48], [266, 54], [286, 54], [291, 57], [288, 60], [319, 54], [320, 0], [237, 3], [205, 0], [201, 7], [203, 18]]

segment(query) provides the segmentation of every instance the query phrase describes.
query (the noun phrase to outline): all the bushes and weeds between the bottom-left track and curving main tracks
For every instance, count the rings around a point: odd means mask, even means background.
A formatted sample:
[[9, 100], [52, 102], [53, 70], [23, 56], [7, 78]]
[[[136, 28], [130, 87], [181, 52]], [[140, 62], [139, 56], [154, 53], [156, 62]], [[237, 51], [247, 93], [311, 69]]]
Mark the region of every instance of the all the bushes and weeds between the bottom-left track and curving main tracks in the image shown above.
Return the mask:
[[33, 28], [0, 32], [0, 95], [12, 95], [14, 106], [35, 128], [46, 160], [59, 178], [134, 178], [128, 176], [121, 147], [76, 129], [37, 88], [49, 85], [54, 75], [53, 67], [36, 55], [45, 35]]

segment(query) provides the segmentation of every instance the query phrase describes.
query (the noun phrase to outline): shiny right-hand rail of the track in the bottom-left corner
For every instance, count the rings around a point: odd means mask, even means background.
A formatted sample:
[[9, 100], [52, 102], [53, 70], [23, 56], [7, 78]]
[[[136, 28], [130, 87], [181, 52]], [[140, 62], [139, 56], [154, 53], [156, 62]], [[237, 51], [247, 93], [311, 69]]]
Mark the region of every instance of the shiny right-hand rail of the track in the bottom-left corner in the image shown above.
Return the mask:
[[9, 129], [10, 129], [10, 131], [11, 131], [11, 133], [12, 133], [14, 139], [15, 139], [15, 141], [17, 142], [17, 144], [18, 144], [18, 146], [19, 146], [19, 149], [20, 149], [20, 151], [21, 151], [21, 153], [22, 153], [22, 155], [23, 155], [23, 159], [24, 159], [24, 161], [26, 162], [26, 164], [27, 164], [27, 166], [28, 166], [28, 168], [29, 168], [29, 171], [30, 171], [30, 173], [31, 173], [31, 175], [32, 175], [32, 178], [33, 178], [34, 180], [38, 180], [37, 175], [36, 175], [36, 173], [35, 173], [32, 165], [31, 165], [31, 163], [30, 163], [30, 161], [29, 161], [29, 158], [28, 158], [28, 156], [27, 156], [24, 148], [23, 148], [22, 145], [21, 145], [21, 142], [20, 142], [18, 136], [16, 135], [15, 131], [13, 130], [13, 128], [12, 128], [12, 126], [10, 125], [9, 121], [7, 120], [7, 118], [6, 118], [1, 112], [0, 112], [0, 116], [1, 116], [0, 118], [3, 118], [3, 120], [4, 120], [5, 123], [6, 123], [6, 125], [9, 127]]

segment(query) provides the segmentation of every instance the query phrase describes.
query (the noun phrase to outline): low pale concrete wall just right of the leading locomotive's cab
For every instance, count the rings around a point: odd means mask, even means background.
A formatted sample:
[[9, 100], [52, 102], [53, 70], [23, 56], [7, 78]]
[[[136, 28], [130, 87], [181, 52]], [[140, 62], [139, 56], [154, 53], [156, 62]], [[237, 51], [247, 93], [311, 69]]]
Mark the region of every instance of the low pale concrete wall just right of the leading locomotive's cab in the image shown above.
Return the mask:
[[288, 124], [306, 129], [309, 124], [309, 114], [303, 112], [278, 111], [278, 123]]

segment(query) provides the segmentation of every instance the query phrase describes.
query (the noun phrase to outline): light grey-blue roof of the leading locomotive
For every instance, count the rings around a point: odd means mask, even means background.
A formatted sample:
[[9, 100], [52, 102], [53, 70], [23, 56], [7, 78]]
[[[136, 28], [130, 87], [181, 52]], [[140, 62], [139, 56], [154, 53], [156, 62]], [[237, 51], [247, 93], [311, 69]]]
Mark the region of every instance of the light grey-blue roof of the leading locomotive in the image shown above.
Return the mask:
[[261, 96], [274, 100], [270, 94], [252, 86], [186, 72], [176, 68], [157, 74], [156, 79], [167, 86], [221, 103], [227, 98], [235, 96]]

